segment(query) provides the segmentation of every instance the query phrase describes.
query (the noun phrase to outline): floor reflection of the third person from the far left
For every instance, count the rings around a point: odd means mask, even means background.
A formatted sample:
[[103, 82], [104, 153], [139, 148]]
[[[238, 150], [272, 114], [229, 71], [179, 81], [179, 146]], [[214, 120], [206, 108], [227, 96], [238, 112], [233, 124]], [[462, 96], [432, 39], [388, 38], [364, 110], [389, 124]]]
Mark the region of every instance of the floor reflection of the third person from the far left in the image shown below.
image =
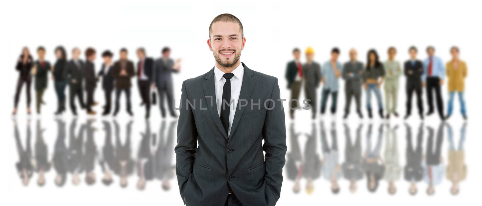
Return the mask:
[[62, 187], [67, 180], [67, 171], [69, 163], [69, 152], [65, 143], [66, 124], [65, 121], [57, 119], [57, 140], [54, 145], [54, 156], [52, 157], [53, 167], [57, 175], [55, 176], [55, 185]]

